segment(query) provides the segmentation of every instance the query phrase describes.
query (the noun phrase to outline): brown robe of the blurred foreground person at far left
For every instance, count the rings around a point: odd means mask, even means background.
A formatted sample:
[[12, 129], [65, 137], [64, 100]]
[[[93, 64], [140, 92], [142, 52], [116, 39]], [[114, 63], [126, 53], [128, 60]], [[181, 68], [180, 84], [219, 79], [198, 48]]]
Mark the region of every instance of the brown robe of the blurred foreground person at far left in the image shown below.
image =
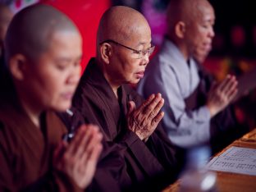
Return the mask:
[[39, 130], [14, 97], [0, 99], [0, 191], [81, 191], [52, 168], [53, 149], [66, 133], [62, 121], [43, 112]]

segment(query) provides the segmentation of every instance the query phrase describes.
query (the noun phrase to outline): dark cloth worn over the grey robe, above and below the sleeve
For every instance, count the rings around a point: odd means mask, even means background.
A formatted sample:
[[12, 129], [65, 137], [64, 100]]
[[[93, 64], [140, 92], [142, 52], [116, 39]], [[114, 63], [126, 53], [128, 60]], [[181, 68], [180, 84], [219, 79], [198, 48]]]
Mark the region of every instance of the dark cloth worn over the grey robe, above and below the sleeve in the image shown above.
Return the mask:
[[[185, 99], [186, 108], [194, 110], [207, 102], [208, 92], [213, 84], [213, 76], [204, 70], [203, 66], [198, 65], [200, 82], [197, 89], [190, 97]], [[232, 141], [244, 135], [246, 128], [239, 125], [235, 118], [232, 105], [227, 106], [222, 112], [217, 113], [210, 121], [210, 146], [213, 153], [224, 149]]]

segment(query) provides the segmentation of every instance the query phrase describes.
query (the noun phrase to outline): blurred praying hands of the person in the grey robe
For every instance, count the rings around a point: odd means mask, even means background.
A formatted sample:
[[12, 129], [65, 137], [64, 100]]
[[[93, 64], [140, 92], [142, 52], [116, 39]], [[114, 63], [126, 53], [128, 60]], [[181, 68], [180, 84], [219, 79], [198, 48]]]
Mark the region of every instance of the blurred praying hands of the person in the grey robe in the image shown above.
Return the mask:
[[207, 107], [211, 117], [221, 112], [237, 93], [237, 80], [234, 75], [227, 75], [222, 82], [214, 84], [208, 93]]

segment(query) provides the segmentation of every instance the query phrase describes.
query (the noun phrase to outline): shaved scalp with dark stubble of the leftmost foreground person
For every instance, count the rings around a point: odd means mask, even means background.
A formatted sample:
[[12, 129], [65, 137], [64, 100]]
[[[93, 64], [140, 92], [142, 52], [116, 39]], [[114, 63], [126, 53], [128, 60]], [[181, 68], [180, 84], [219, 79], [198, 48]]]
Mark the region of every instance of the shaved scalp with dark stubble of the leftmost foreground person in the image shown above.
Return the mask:
[[7, 30], [7, 61], [18, 53], [36, 60], [48, 49], [50, 39], [57, 31], [78, 32], [72, 21], [53, 7], [35, 5], [21, 10], [13, 17]]

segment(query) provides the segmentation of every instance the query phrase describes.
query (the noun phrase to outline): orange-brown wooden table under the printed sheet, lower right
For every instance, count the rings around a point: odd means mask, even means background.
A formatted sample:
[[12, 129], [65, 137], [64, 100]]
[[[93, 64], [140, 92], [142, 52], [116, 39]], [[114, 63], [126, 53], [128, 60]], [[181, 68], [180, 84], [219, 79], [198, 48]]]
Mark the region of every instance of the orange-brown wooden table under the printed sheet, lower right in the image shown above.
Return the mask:
[[[235, 140], [226, 149], [231, 148], [231, 146], [256, 149], [256, 128], [242, 138]], [[216, 156], [226, 149], [217, 153]], [[180, 181], [176, 181], [163, 192], [178, 192], [179, 185]], [[217, 188], [219, 192], [256, 192], [256, 176], [217, 171]]]

